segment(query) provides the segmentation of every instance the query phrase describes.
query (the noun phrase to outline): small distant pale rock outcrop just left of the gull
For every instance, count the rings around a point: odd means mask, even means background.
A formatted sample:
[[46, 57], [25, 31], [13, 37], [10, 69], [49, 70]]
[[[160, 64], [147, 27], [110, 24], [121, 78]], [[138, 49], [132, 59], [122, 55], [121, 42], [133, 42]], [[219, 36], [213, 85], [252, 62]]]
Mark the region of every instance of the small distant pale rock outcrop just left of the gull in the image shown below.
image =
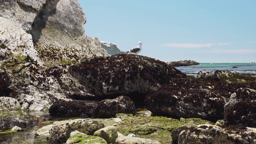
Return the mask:
[[104, 48], [109, 55], [122, 54], [121, 50], [117, 47], [116, 44], [111, 42], [100, 41], [100, 46]]

